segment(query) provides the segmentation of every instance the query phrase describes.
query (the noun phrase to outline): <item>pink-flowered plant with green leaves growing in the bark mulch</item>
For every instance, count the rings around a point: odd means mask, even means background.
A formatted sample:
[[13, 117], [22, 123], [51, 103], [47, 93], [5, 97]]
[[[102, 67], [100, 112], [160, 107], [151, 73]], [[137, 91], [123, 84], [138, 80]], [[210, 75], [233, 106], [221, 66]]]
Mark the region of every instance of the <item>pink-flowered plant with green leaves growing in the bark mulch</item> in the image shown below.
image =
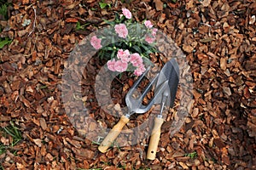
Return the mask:
[[[150, 20], [143, 25], [133, 22], [132, 14], [122, 8], [122, 14], [116, 14], [115, 20], [105, 20], [110, 26], [100, 36], [90, 38], [90, 45], [99, 50], [99, 56], [108, 59], [110, 71], [133, 71], [140, 76], [149, 65], [148, 54], [156, 52], [155, 39], [157, 29]], [[102, 44], [108, 44], [102, 47]]]

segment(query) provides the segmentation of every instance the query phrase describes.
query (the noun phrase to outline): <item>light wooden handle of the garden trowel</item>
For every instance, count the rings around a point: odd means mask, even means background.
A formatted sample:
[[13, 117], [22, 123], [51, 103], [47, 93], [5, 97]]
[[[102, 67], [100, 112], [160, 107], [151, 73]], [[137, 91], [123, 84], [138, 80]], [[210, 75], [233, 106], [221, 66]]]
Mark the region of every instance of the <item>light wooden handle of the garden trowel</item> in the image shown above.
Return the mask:
[[148, 145], [148, 153], [147, 153], [147, 159], [149, 160], [155, 159], [157, 146], [160, 140], [161, 126], [163, 122], [164, 122], [163, 118], [159, 118], [159, 117], [154, 118], [154, 128], [152, 130], [152, 135], [150, 137], [150, 141]]

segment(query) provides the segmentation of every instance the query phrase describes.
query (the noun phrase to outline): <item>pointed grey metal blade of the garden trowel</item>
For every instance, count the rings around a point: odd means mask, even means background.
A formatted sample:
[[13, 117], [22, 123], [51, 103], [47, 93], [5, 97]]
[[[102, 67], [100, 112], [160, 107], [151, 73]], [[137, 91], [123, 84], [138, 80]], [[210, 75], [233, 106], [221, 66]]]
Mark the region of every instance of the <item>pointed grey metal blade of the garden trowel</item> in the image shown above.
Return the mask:
[[[168, 81], [166, 88], [160, 90], [160, 85]], [[179, 81], [179, 67], [176, 59], [170, 59], [161, 69], [155, 87], [156, 94], [154, 104], [160, 104], [163, 96], [167, 95], [166, 105], [172, 107], [177, 93], [177, 85]]]

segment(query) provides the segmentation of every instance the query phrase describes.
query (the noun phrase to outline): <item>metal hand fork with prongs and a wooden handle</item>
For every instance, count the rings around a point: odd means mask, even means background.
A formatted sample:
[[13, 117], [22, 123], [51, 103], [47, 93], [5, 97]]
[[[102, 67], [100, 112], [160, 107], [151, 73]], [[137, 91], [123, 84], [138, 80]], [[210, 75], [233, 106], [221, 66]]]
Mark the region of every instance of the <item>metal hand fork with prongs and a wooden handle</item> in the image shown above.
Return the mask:
[[[102, 153], [105, 153], [111, 144], [113, 144], [113, 141], [118, 137], [119, 133], [122, 131], [123, 127], [127, 122], [130, 121], [131, 115], [137, 113], [137, 114], [143, 114], [147, 112], [152, 105], [154, 105], [154, 98], [151, 99], [148, 103], [148, 105], [143, 105], [143, 98], [148, 94], [148, 91], [153, 87], [154, 82], [156, 82], [158, 75], [153, 78], [151, 82], [148, 83], [146, 88], [143, 90], [142, 94], [140, 94], [137, 99], [135, 99], [132, 94], [135, 93], [136, 89], [138, 88], [139, 84], [143, 81], [143, 78], [146, 76], [146, 74], [149, 71], [149, 67], [146, 71], [144, 71], [143, 75], [141, 75], [137, 81], [133, 84], [129, 92], [125, 96], [125, 103], [128, 107], [128, 112], [125, 116], [121, 116], [119, 122], [113, 126], [111, 131], [108, 133], [107, 137], [102, 141], [102, 144], [98, 147], [98, 150], [100, 150]], [[160, 87], [161, 88], [161, 87]], [[161, 91], [161, 90], [160, 90]], [[157, 94], [154, 94], [156, 96]]]

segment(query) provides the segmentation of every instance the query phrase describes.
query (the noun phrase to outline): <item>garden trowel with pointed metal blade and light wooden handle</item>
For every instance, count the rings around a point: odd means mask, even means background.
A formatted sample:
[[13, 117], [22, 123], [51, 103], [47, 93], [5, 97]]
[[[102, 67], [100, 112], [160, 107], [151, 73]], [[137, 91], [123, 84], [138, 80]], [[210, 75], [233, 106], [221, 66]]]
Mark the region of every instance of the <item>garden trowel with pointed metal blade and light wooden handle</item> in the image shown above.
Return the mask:
[[[179, 81], [179, 67], [176, 59], [169, 60], [158, 76], [154, 94], [154, 104], [160, 104], [160, 114], [154, 118], [154, 127], [151, 133], [147, 158], [155, 159], [156, 150], [160, 140], [160, 128], [164, 122], [162, 112], [165, 107], [173, 107]], [[167, 109], [166, 108], [166, 109]]]

